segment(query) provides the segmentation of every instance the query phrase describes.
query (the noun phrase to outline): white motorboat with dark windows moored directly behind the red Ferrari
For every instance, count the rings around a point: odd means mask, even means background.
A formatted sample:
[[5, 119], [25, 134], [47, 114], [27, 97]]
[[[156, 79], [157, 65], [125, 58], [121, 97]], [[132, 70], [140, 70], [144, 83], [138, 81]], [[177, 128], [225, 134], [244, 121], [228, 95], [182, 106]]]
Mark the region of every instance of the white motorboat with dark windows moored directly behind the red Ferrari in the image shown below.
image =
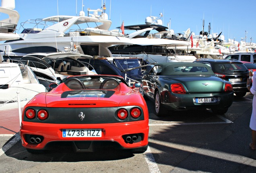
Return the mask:
[[77, 52], [31, 53], [17, 61], [28, 65], [45, 87], [58, 83], [70, 75], [97, 74], [90, 64], [78, 58], [91, 59], [92, 56]]

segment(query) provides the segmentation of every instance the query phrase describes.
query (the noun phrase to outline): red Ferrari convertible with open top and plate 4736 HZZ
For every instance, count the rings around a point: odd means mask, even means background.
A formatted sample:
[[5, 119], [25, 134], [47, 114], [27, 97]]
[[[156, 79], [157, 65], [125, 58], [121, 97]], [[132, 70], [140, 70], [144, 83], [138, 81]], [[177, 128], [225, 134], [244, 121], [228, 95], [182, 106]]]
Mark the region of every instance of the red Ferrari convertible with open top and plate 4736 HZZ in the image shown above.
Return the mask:
[[[138, 85], [138, 86], [137, 86]], [[70, 76], [25, 105], [21, 141], [30, 153], [52, 144], [69, 142], [75, 151], [95, 151], [117, 144], [121, 149], [145, 152], [149, 113], [142, 95], [121, 76]]]

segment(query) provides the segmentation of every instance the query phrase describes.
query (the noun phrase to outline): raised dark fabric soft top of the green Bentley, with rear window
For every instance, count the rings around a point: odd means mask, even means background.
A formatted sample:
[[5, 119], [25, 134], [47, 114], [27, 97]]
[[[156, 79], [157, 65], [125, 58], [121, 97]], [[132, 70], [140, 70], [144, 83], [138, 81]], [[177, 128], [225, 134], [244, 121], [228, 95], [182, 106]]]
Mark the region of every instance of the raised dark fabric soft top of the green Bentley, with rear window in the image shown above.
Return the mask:
[[210, 66], [194, 62], [165, 62], [155, 64], [158, 75], [215, 75]]

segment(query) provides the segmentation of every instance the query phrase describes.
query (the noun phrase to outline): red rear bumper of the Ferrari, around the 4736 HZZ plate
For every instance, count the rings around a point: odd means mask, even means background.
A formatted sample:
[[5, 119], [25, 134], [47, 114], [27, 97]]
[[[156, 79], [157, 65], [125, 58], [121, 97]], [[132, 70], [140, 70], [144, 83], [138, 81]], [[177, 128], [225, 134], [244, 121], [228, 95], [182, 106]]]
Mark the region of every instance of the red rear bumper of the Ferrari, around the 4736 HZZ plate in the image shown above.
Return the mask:
[[[62, 137], [62, 129], [101, 129], [101, 137]], [[124, 137], [139, 134], [139, 141], [128, 143]], [[136, 121], [109, 124], [47, 124], [23, 121], [20, 130], [23, 147], [28, 149], [45, 149], [52, 142], [74, 141], [113, 141], [124, 149], [134, 149], [148, 145], [149, 121]], [[40, 143], [32, 144], [27, 136], [42, 136]], [[92, 143], [93, 144], [93, 143]]]

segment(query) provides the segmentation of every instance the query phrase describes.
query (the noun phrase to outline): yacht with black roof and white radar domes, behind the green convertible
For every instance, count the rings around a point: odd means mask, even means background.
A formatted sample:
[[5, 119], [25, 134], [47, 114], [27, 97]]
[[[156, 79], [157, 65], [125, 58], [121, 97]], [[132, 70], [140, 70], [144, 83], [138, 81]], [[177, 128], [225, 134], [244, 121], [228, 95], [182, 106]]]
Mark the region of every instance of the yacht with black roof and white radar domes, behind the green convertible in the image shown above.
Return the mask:
[[[173, 30], [167, 30], [163, 22], [155, 16], [147, 17], [145, 24], [124, 26], [125, 30], [136, 30], [129, 34], [132, 44], [114, 45], [109, 48], [113, 56], [137, 56], [151, 63], [153, 62], [192, 62], [195, 56], [185, 53], [181, 47], [188, 50], [191, 45], [188, 42], [190, 30], [184, 34], [175, 34]], [[141, 34], [137, 34], [141, 32]], [[143, 33], [143, 34], [142, 34]]]

